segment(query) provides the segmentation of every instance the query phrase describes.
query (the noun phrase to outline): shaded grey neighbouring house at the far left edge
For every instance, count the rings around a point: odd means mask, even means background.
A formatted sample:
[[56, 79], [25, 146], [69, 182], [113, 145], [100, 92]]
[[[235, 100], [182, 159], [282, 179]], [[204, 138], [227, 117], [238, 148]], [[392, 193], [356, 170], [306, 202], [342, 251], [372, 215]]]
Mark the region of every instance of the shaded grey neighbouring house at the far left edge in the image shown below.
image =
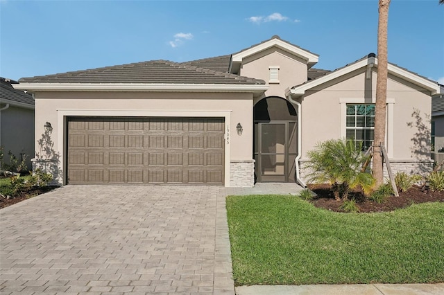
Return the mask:
[[19, 162], [25, 159], [32, 169], [34, 157], [34, 100], [31, 94], [12, 87], [15, 80], [0, 78], [0, 145], [3, 161], [10, 164], [9, 152]]

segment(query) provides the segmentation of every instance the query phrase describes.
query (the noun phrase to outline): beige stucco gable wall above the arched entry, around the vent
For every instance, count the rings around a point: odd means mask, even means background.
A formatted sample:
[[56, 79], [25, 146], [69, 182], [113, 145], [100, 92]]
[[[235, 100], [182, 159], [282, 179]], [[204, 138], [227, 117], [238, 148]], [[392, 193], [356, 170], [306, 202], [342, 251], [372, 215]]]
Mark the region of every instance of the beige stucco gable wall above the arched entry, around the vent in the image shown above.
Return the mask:
[[[268, 83], [270, 66], [279, 66], [279, 83]], [[246, 57], [242, 61], [240, 75], [262, 79], [269, 86], [265, 96], [284, 97], [285, 89], [307, 81], [307, 64], [304, 60], [279, 48]]]

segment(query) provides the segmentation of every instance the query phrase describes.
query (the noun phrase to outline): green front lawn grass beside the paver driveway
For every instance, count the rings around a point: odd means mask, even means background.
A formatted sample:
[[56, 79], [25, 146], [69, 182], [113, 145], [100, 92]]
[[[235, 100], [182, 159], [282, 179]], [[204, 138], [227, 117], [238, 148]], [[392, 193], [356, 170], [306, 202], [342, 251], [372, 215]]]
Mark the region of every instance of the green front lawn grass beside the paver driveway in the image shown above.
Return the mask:
[[227, 210], [236, 285], [444, 282], [444, 203], [334, 213], [250, 195]]

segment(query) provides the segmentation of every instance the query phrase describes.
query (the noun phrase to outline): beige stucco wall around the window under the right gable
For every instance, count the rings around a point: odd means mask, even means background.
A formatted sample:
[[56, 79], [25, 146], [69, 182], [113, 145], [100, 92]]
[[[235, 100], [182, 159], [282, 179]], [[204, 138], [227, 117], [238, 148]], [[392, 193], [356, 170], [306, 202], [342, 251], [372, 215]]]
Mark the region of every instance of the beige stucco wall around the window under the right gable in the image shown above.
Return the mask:
[[[316, 143], [345, 136], [341, 102], [375, 102], [376, 80], [375, 71], [366, 79], [361, 69], [306, 92], [302, 100], [302, 159]], [[431, 99], [429, 93], [416, 89], [393, 75], [388, 77], [386, 148], [391, 159], [413, 161], [429, 154]]]

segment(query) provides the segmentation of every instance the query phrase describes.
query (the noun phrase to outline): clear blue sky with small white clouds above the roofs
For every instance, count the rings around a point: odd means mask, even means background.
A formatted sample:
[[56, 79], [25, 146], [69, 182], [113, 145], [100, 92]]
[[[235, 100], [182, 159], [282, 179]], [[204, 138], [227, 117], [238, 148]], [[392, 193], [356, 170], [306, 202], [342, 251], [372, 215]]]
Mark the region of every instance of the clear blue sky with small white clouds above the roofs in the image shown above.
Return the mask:
[[[0, 0], [0, 75], [18, 80], [236, 53], [273, 35], [336, 69], [377, 51], [377, 0]], [[392, 0], [388, 60], [444, 84], [444, 5]]]

